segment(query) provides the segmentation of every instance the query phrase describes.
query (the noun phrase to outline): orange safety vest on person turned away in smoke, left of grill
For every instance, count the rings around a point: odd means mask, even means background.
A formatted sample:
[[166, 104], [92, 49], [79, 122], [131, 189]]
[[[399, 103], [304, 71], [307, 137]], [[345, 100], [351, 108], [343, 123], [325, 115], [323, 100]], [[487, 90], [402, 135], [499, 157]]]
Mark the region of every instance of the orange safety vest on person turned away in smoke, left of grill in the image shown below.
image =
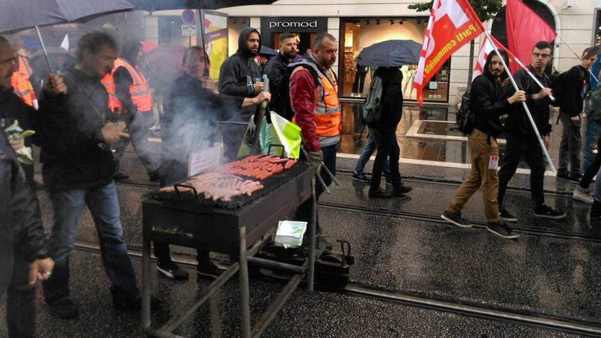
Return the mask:
[[138, 107], [138, 111], [151, 111], [152, 96], [150, 95], [150, 90], [148, 89], [148, 84], [144, 75], [142, 75], [137, 67], [133, 67], [132, 64], [123, 58], [115, 60], [115, 66], [112, 69], [111, 75], [106, 74], [100, 80], [100, 82], [105, 85], [106, 91], [109, 93], [109, 108], [111, 108], [111, 111], [115, 111], [115, 108], [119, 108], [119, 111], [121, 111], [123, 108], [123, 105], [115, 94], [115, 79], [112, 76], [119, 67], [125, 67], [129, 72], [129, 75], [132, 76], [133, 82], [132, 85], [129, 86], [129, 93], [132, 96], [133, 104]]

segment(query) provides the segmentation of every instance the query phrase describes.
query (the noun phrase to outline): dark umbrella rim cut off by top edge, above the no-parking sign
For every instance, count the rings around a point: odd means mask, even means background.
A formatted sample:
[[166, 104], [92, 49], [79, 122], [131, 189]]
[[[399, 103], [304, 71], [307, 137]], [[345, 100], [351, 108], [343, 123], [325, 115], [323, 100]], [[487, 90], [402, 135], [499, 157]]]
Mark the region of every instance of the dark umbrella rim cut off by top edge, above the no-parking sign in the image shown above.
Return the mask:
[[129, 0], [136, 10], [162, 11], [183, 10], [185, 8], [216, 10], [218, 8], [245, 6], [245, 5], [269, 5], [276, 0]]

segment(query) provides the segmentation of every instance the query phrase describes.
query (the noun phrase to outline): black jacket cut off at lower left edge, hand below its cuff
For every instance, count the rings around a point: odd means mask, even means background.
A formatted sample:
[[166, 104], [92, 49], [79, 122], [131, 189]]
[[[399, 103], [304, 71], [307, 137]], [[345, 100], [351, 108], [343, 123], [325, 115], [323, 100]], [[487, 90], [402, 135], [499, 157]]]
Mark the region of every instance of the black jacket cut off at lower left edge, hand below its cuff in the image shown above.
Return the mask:
[[0, 294], [13, 274], [14, 255], [29, 262], [48, 257], [40, 205], [25, 183], [25, 173], [0, 128]]

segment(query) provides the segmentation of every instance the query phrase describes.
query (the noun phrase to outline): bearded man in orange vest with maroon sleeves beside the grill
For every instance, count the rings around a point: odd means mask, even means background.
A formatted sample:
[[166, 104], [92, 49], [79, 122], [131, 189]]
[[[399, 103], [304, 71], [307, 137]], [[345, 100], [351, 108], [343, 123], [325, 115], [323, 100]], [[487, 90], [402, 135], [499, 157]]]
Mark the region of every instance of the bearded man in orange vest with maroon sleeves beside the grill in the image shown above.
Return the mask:
[[[320, 33], [313, 39], [313, 52], [288, 65], [292, 69], [290, 101], [309, 155], [307, 161], [317, 168], [326, 185], [330, 185], [332, 179], [322, 170], [322, 162], [336, 174], [336, 145], [342, 130], [338, 82], [332, 72], [337, 52], [338, 42], [334, 35]], [[318, 184], [316, 198], [322, 192], [323, 187]], [[299, 208], [299, 217], [308, 218], [307, 205]]]

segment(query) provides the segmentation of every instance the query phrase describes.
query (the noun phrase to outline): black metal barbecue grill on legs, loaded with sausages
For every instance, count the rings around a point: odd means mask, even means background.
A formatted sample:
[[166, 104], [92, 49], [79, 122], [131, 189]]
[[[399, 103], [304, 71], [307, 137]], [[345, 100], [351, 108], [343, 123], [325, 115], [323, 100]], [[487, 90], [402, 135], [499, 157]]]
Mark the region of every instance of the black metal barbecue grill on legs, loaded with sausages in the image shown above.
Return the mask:
[[[142, 330], [149, 337], [175, 337], [171, 332], [194, 313], [225, 281], [240, 272], [240, 336], [258, 337], [307, 274], [307, 290], [313, 290], [316, 260], [316, 169], [298, 162], [261, 182], [264, 188], [231, 201], [206, 199], [196, 191], [151, 192], [144, 195], [142, 261]], [[271, 241], [268, 233], [307, 200], [312, 200], [309, 220], [309, 254], [302, 265], [252, 257]], [[185, 312], [159, 330], [150, 328], [150, 242], [163, 242], [229, 254], [237, 258], [223, 274], [199, 293]], [[252, 327], [250, 323], [248, 261], [253, 265], [294, 272], [284, 290]]]

